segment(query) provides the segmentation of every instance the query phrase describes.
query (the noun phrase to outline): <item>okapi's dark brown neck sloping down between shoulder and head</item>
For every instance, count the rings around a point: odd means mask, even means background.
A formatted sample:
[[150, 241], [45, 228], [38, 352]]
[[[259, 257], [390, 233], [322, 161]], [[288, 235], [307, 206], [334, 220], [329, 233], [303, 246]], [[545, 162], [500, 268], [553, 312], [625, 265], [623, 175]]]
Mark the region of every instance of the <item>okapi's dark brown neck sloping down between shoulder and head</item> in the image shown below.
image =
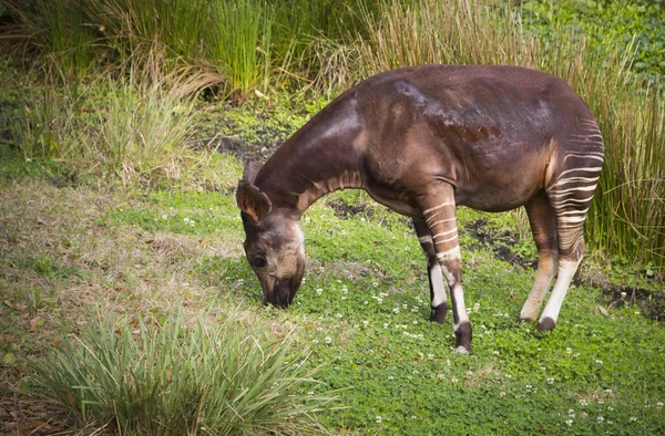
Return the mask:
[[362, 188], [366, 137], [356, 100], [346, 95], [318, 113], [284, 143], [256, 176], [273, 209], [296, 218], [321, 196]]

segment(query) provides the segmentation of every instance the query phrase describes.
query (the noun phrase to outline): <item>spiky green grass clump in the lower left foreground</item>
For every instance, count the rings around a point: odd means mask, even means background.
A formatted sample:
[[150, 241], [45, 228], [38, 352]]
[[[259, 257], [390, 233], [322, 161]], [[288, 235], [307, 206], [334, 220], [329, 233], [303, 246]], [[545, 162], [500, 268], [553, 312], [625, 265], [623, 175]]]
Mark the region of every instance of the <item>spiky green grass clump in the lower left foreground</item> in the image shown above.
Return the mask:
[[304, 370], [291, 335], [267, 339], [265, 323], [237, 313], [211, 325], [183, 313], [140, 323], [116, 315], [90, 324], [37, 364], [38, 392], [78, 425], [120, 434], [318, 433], [314, 413], [331, 401]]

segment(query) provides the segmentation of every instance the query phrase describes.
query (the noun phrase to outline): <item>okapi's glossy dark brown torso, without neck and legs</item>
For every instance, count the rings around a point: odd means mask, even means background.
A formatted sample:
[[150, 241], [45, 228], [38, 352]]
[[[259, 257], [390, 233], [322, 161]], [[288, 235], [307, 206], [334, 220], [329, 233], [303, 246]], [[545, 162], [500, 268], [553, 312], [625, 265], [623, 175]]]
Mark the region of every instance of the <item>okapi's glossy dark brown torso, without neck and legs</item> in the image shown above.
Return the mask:
[[570, 146], [559, 138], [593, 120], [564, 81], [515, 66], [396, 70], [359, 85], [355, 100], [371, 121], [378, 185], [436, 177], [456, 186], [458, 205], [482, 210], [512, 209], [543, 189], [551, 157]]

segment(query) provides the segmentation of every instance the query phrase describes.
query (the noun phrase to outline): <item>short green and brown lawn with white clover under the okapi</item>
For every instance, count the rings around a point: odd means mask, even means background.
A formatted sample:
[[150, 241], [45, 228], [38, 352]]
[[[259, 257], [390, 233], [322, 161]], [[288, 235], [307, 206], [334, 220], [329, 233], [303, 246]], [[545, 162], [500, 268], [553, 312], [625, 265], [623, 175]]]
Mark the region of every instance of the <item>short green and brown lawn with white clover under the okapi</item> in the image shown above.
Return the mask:
[[[451, 316], [427, 322], [426, 262], [408, 221], [358, 191], [308, 210], [306, 280], [290, 309], [265, 307], [242, 249], [236, 156], [269, 154], [304, 115], [289, 125], [262, 113], [253, 124], [202, 111], [206, 123], [225, 117], [219, 146], [235, 153], [216, 154], [224, 174], [205, 183], [74, 178], [1, 146], [0, 434], [72, 428], [23, 388], [64, 335], [110, 312], [139, 324], [176, 310], [207, 311], [212, 328], [213, 314], [238, 311], [276, 338], [293, 330], [323, 382], [307, 393], [338, 397], [317, 415], [331, 434], [665, 434], [662, 284], [634, 292], [630, 271], [591, 253], [554, 331], [518, 323], [536, 259], [521, 214], [459, 211], [470, 356], [452, 353]], [[256, 124], [272, 136], [247, 136]]]

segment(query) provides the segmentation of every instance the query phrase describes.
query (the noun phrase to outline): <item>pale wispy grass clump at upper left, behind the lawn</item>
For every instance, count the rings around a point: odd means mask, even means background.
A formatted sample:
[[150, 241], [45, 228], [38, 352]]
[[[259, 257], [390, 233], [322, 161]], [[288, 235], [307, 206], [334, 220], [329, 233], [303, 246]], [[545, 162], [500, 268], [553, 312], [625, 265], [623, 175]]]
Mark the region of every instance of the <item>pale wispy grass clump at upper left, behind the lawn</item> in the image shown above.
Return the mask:
[[[106, 72], [82, 91], [63, 93], [52, 80], [27, 95], [14, 128], [25, 158], [69, 162], [83, 172], [132, 177], [177, 177], [187, 157], [192, 93], [186, 71], [162, 71], [158, 54]], [[91, 107], [91, 106], [94, 106]]]

